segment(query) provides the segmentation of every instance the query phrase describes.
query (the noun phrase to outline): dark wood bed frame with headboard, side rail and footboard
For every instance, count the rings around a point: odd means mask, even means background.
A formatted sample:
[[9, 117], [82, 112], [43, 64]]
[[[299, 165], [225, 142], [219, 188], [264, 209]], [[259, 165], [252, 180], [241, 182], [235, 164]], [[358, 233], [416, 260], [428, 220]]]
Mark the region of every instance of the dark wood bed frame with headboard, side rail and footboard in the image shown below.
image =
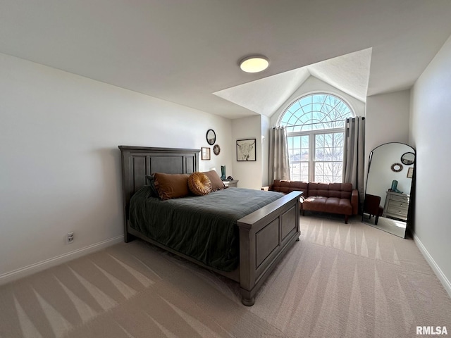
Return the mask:
[[[299, 196], [291, 192], [271, 204], [237, 221], [240, 228], [240, 265], [227, 273], [190, 258], [144, 236], [130, 227], [128, 208], [130, 197], [151, 173], [194, 173], [199, 167], [198, 149], [171, 149], [143, 146], [119, 146], [122, 153], [122, 184], [124, 239], [135, 237], [186, 258], [204, 268], [240, 283], [242, 303], [254, 305], [255, 294], [292, 244], [299, 241]], [[239, 189], [239, 188], [229, 188]]]

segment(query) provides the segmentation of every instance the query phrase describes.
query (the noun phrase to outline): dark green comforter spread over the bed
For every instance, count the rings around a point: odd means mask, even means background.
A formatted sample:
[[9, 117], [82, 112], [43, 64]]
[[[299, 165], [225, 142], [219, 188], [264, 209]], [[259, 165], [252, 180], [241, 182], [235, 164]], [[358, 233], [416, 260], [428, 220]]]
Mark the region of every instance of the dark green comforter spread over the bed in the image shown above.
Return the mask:
[[237, 220], [283, 194], [228, 188], [205, 196], [161, 201], [149, 186], [130, 200], [131, 227], [175, 251], [223, 271], [240, 261]]

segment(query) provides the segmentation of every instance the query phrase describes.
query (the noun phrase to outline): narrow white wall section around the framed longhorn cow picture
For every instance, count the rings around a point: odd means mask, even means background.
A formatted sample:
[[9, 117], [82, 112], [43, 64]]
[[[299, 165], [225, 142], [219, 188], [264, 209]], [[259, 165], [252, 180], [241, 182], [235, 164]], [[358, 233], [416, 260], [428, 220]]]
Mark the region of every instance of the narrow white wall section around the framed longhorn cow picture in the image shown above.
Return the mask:
[[[233, 178], [240, 180], [238, 187], [249, 189], [261, 189], [261, 115], [248, 118], [237, 118], [232, 121], [233, 145], [237, 139], [256, 139], [256, 160], [249, 162], [236, 161], [234, 154]], [[234, 150], [235, 151], [235, 150]], [[230, 175], [227, 173], [227, 175]]]

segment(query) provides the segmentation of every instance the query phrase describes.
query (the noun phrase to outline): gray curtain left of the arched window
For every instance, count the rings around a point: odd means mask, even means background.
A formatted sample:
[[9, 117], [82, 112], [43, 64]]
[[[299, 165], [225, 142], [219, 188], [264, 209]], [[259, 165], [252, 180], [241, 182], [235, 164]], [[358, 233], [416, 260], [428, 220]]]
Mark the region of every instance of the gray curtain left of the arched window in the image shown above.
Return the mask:
[[285, 127], [269, 130], [269, 184], [274, 180], [290, 180], [288, 141]]

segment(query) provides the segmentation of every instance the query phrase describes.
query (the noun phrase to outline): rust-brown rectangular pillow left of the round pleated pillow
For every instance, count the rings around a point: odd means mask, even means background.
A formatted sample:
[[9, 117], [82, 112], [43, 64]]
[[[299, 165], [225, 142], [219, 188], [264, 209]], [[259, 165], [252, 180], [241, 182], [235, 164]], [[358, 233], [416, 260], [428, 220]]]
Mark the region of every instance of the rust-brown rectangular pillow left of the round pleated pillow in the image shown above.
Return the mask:
[[188, 188], [189, 174], [155, 173], [155, 187], [160, 199], [178, 199], [190, 194]]

